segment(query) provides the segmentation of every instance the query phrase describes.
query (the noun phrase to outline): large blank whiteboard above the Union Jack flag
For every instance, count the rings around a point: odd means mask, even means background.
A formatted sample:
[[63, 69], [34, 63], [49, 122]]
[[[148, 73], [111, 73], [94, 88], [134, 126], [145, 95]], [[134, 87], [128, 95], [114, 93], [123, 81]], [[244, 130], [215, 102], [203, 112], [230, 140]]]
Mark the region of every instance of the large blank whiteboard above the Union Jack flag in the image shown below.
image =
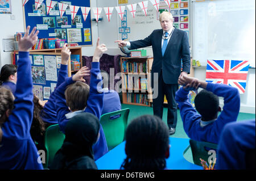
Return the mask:
[[255, 68], [255, 0], [192, 2], [193, 59], [249, 60]]

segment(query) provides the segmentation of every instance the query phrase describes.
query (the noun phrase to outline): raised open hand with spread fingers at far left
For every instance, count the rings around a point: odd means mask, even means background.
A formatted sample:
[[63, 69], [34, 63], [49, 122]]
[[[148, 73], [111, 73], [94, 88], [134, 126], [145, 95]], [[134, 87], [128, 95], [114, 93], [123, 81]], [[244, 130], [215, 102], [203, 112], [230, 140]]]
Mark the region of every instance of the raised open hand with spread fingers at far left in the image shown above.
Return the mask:
[[20, 33], [18, 33], [18, 46], [20, 52], [28, 52], [28, 50], [36, 44], [36, 41], [38, 41], [39, 31], [35, 31], [36, 27], [34, 27], [31, 33], [29, 34], [30, 26], [27, 26], [26, 33], [23, 37]]

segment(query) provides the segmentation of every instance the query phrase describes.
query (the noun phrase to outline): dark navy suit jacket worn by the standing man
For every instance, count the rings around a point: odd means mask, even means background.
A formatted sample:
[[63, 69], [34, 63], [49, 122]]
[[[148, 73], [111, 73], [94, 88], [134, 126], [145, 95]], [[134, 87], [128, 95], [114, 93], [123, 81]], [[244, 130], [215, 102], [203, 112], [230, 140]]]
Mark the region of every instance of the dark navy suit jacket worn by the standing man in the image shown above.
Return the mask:
[[159, 77], [161, 69], [165, 83], [177, 84], [181, 72], [181, 58], [183, 61], [183, 71], [186, 71], [188, 74], [190, 71], [190, 51], [187, 33], [175, 28], [168, 42], [166, 52], [164, 52], [164, 56], [162, 56], [162, 35], [162, 29], [154, 30], [146, 39], [130, 42], [130, 49], [149, 47], [152, 45], [154, 54], [151, 70], [152, 87], [152, 83], [154, 82], [153, 73], [158, 73]]

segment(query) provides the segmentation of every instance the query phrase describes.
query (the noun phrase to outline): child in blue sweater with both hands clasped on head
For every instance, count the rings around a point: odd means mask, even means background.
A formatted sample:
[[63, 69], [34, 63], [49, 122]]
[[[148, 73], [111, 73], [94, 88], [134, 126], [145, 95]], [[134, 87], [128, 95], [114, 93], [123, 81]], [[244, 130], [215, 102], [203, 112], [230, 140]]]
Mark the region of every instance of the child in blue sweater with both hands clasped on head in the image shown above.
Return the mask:
[[[176, 92], [183, 127], [188, 137], [196, 141], [218, 144], [224, 125], [237, 120], [240, 110], [240, 94], [232, 86], [200, 81], [197, 78], [183, 75], [178, 80], [183, 85]], [[189, 90], [203, 88], [196, 95], [195, 107], [188, 101]], [[219, 106], [218, 96], [224, 97], [223, 111]], [[198, 111], [198, 113], [197, 113]], [[218, 116], [218, 112], [221, 111]]]

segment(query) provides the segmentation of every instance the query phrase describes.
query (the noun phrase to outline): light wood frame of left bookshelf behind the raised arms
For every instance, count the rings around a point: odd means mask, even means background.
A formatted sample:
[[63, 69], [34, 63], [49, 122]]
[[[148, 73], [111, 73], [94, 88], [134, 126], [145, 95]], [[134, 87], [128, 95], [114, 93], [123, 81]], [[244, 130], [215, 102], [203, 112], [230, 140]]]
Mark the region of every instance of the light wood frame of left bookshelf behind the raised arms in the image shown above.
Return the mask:
[[[82, 67], [82, 47], [69, 47], [71, 54], [79, 54], [80, 55], [80, 68]], [[11, 62], [14, 62], [14, 53], [18, 53], [19, 50], [14, 50], [11, 53]], [[53, 55], [61, 55], [61, 48], [55, 49], [34, 49], [30, 50], [30, 54], [53, 54]], [[71, 71], [71, 60], [69, 58], [68, 61], [68, 77], [71, 77], [73, 73], [77, 71]]]

